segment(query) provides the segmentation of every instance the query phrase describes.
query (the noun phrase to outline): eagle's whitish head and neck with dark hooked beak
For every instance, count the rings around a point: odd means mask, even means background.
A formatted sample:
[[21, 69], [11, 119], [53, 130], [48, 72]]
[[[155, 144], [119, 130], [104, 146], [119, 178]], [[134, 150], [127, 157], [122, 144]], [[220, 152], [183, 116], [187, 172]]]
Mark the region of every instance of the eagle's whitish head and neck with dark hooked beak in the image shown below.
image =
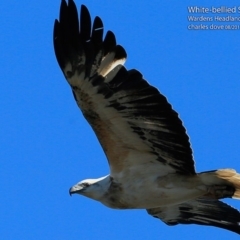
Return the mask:
[[69, 189], [69, 194], [81, 194], [83, 196], [100, 201], [104, 194], [108, 191], [111, 179], [108, 176], [98, 179], [83, 180]]

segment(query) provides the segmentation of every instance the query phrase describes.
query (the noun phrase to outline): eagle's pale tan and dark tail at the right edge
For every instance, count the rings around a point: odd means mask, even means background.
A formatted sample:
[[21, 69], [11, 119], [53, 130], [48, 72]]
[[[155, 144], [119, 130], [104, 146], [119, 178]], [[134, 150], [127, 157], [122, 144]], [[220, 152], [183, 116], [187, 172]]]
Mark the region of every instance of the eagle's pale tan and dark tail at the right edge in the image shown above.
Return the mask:
[[216, 186], [217, 198], [231, 197], [240, 199], [240, 174], [234, 169], [219, 169], [199, 174], [206, 186]]

